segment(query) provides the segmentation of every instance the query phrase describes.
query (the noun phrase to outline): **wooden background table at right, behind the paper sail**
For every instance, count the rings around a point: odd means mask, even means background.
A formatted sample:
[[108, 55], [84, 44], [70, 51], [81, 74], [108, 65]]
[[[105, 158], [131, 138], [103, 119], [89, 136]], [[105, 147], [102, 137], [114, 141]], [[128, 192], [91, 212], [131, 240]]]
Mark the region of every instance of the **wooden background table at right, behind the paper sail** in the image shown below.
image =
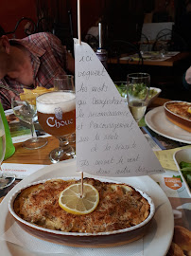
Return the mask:
[[[124, 56], [123, 56], [124, 57]], [[144, 60], [144, 65], [160, 65], [172, 67], [175, 64], [180, 63], [182, 60], [191, 58], [191, 52], [180, 52], [177, 55], [165, 60], [165, 61], [148, 61]], [[141, 61], [130, 61], [130, 60], [120, 60], [117, 58], [110, 58], [108, 64], [141, 64]]]

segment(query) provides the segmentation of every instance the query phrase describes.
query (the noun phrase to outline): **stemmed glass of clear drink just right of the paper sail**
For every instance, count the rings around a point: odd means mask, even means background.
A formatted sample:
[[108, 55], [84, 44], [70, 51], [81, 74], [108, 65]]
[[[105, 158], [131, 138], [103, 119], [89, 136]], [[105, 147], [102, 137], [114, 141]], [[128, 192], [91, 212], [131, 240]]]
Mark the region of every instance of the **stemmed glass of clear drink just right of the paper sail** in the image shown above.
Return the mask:
[[148, 73], [132, 73], [127, 77], [127, 99], [130, 113], [139, 122], [146, 113], [150, 76]]

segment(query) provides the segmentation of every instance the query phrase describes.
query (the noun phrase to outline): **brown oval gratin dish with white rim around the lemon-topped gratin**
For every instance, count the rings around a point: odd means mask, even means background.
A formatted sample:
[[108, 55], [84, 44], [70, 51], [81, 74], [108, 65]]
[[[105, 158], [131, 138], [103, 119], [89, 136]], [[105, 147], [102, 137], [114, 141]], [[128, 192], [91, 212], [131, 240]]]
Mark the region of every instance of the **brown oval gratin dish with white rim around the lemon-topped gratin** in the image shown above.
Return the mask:
[[[64, 178], [64, 180], [70, 180], [70, 179], [79, 179], [78, 177], [67, 177]], [[62, 178], [63, 179], [63, 178]], [[111, 182], [116, 183], [115, 181], [111, 181], [108, 179], [101, 179], [98, 180], [102, 182]], [[134, 188], [137, 192], [140, 192], [141, 195], [146, 198], [148, 201], [148, 204], [150, 206], [148, 218], [144, 220], [142, 223], [127, 228], [127, 229], [118, 229], [113, 230], [110, 232], [98, 232], [98, 233], [77, 233], [77, 232], [63, 232], [59, 230], [53, 230], [53, 229], [44, 229], [42, 227], [39, 227], [37, 225], [31, 224], [29, 222], [26, 222], [23, 220], [20, 216], [18, 216], [14, 209], [13, 209], [13, 203], [17, 195], [22, 192], [24, 189], [30, 187], [31, 185], [36, 185], [39, 183], [43, 183], [46, 180], [38, 181], [32, 184], [29, 184], [19, 191], [15, 192], [10, 200], [9, 200], [9, 212], [14, 217], [16, 222], [26, 230], [26, 232], [30, 233], [33, 236], [36, 236], [40, 239], [43, 239], [45, 241], [49, 241], [56, 244], [61, 244], [69, 247], [115, 247], [115, 246], [121, 246], [127, 243], [130, 243], [132, 241], [138, 240], [141, 237], [144, 236], [144, 234], [148, 230], [148, 226], [151, 223], [151, 220], [155, 213], [155, 207], [153, 204], [152, 199], [148, 196], [146, 192], [142, 192], [139, 189]], [[122, 184], [120, 182], [117, 182], [117, 184]], [[128, 184], [127, 184], [128, 185]]]

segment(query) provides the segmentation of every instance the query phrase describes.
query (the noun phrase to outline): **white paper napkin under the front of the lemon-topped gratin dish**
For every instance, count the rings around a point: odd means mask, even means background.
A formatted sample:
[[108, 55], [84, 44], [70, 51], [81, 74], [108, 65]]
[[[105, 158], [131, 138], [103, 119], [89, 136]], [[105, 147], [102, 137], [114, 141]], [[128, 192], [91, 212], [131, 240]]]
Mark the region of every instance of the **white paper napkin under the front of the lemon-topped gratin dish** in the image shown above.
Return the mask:
[[82, 247], [66, 247], [49, 243], [33, 237], [22, 229], [16, 222], [2, 235], [0, 240], [5, 240], [10, 243], [25, 247], [29, 251], [42, 252], [48, 254], [64, 253], [62, 255], [77, 255], [77, 256], [116, 256], [130, 255], [143, 256], [143, 239], [139, 239], [133, 243], [121, 247], [106, 247], [106, 248], [82, 248]]

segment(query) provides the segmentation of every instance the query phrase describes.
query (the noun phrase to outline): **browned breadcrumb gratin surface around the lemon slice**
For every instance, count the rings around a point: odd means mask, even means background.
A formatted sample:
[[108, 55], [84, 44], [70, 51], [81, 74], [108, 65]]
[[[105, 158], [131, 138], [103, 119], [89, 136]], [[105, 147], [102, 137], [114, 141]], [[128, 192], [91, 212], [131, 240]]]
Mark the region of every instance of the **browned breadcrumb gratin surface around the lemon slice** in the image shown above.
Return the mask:
[[52, 179], [32, 185], [20, 192], [14, 200], [14, 210], [22, 219], [45, 229], [64, 232], [97, 233], [126, 229], [148, 218], [150, 206], [140, 192], [126, 184], [101, 182], [84, 178], [99, 192], [96, 210], [76, 215], [59, 206], [60, 193], [80, 180]]

